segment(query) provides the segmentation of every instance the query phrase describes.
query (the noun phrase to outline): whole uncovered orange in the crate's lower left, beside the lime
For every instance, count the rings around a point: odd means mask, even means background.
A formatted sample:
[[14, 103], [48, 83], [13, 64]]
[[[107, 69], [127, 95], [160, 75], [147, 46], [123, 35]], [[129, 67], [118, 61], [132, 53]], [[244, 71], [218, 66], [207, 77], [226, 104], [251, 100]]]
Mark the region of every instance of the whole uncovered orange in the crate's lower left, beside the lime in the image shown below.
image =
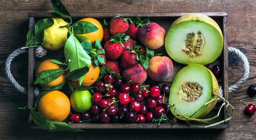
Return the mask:
[[50, 121], [62, 122], [69, 116], [69, 98], [60, 91], [43, 95], [38, 102], [38, 113]]

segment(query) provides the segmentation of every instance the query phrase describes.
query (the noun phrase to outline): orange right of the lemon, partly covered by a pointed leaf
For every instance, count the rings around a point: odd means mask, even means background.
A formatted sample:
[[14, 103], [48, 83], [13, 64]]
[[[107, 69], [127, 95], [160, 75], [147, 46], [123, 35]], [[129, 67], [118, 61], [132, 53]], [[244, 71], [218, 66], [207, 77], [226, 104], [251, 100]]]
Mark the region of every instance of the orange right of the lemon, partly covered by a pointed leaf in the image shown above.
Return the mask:
[[95, 32], [86, 33], [86, 34], [79, 34], [79, 35], [82, 35], [82, 36], [86, 37], [87, 39], [89, 39], [91, 41], [91, 43], [94, 43], [96, 41], [96, 39], [98, 39], [99, 42], [102, 42], [102, 39], [103, 39], [103, 27], [102, 27], [102, 25], [99, 23], [99, 21], [97, 19], [94, 19], [94, 18], [83, 18], [83, 19], [80, 19], [79, 21], [90, 22], [93, 25], [95, 25], [96, 27], [98, 27], [98, 29], [99, 29], [99, 30], [97, 30]]

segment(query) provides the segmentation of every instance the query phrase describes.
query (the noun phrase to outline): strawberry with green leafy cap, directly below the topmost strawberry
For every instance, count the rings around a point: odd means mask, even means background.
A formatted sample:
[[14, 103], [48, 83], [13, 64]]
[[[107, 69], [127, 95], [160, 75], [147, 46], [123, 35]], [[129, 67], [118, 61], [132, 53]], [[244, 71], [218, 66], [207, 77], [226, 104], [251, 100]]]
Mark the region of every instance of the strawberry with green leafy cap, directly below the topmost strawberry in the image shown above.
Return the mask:
[[110, 38], [104, 45], [106, 57], [111, 60], [117, 60], [122, 55], [124, 47], [122, 45], [123, 42], [128, 40], [129, 36], [124, 36], [123, 34], [117, 34]]

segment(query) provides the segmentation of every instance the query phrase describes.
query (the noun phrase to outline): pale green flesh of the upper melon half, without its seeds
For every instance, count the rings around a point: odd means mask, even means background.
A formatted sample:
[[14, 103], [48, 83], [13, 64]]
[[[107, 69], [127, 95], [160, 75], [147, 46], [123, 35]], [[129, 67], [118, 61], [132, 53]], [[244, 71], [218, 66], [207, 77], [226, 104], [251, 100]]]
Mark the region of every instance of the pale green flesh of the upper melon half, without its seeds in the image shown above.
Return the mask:
[[[186, 35], [189, 33], [197, 34], [198, 32], [201, 32], [204, 39], [202, 54], [191, 57], [183, 51], [186, 48]], [[183, 64], [209, 64], [215, 61], [223, 50], [223, 35], [219, 27], [217, 28], [204, 21], [181, 21], [176, 25], [172, 25], [166, 33], [165, 49], [176, 62]]]

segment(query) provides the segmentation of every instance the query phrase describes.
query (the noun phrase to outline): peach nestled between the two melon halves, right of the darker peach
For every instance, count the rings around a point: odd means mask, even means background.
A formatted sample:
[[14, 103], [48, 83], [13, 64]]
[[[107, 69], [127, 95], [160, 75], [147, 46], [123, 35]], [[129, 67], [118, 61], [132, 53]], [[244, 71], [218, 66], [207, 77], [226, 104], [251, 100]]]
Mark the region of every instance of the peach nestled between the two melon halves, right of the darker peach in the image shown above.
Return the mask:
[[149, 61], [149, 69], [147, 74], [157, 82], [165, 82], [171, 77], [173, 72], [173, 64], [169, 57], [154, 56]]

